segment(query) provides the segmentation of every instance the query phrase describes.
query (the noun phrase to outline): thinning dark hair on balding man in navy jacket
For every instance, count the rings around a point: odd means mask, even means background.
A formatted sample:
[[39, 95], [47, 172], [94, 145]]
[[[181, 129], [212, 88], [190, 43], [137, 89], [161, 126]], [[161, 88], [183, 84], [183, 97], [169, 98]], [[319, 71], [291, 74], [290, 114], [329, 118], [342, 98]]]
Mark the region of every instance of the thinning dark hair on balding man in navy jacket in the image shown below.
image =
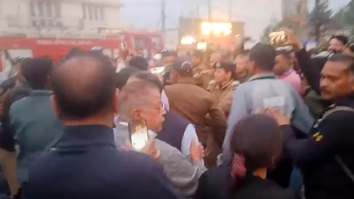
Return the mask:
[[66, 59], [52, 74], [61, 119], [84, 120], [111, 111], [116, 90], [114, 74], [110, 59], [103, 54], [80, 51]]

